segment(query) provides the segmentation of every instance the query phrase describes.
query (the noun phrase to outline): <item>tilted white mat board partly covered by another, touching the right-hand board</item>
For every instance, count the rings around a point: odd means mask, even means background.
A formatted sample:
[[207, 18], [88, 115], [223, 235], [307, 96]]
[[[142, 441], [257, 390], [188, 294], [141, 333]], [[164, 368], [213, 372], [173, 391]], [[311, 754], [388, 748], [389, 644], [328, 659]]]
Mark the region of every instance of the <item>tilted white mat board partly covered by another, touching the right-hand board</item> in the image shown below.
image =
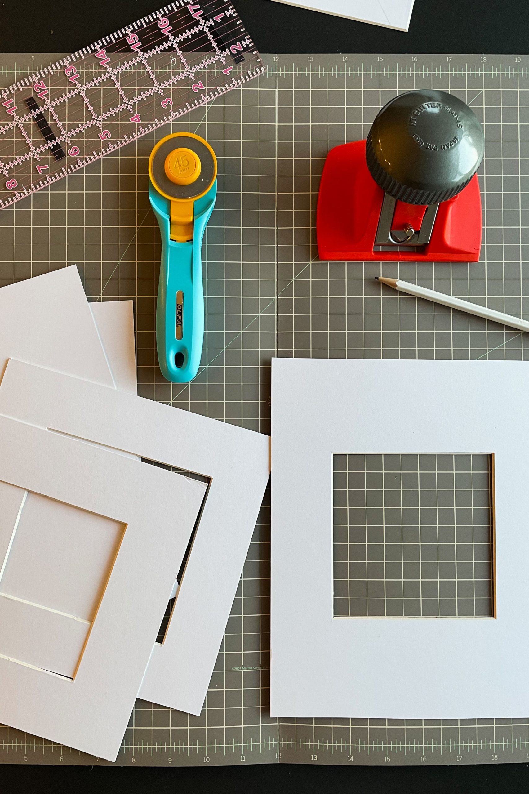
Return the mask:
[[164, 642], [140, 691], [199, 714], [268, 483], [269, 437], [16, 360], [0, 387], [0, 413], [210, 479]]

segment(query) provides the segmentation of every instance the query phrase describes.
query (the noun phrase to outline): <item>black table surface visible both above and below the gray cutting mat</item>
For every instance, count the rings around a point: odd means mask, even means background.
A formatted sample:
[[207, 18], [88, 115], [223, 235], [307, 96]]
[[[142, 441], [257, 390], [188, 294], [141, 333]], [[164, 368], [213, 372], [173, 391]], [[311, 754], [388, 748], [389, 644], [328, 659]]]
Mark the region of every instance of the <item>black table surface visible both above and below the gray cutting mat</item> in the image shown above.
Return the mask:
[[[261, 52], [524, 54], [529, 0], [415, 0], [408, 33], [274, 0], [233, 0]], [[299, 0], [303, 2], [303, 0]], [[376, 2], [376, 0], [373, 0]], [[164, 0], [0, 0], [1, 52], [75, 52]], [[0, 682], [0, 686], [2, 683]], [[493, 684], [492, 684], [493, 685]], [[501, 792], [529, 786], [528, 765], [466, 767], [249, 766], [215, 769], [3, 766], [0, 791]]]

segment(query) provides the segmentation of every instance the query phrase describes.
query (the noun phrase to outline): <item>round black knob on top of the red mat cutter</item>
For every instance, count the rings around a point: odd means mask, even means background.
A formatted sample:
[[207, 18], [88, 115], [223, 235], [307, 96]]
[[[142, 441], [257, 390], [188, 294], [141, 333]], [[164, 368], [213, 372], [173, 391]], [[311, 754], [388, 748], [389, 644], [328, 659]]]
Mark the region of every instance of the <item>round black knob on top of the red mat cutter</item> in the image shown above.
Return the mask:
[[409, 91], [388, 102], [365, 147], [375, 182], [408, 204], [438, 204], [458, 195], [484, 153], [483, 129], [469, 106], [431, 90]]

